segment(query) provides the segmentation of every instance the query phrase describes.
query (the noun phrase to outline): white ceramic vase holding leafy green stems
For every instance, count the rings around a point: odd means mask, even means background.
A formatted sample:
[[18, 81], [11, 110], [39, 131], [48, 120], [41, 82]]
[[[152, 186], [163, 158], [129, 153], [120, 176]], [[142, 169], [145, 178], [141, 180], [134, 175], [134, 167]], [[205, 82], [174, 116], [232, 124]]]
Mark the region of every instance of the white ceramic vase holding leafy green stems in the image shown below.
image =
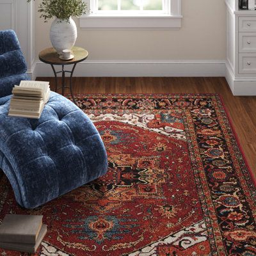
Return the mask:
[[54, 49], [60, 54], [64, 49], [71, 49], [77, 38], [76, 23], [70, 17], [69, 22], [56, 18], [50, 29], [50, 39]]

